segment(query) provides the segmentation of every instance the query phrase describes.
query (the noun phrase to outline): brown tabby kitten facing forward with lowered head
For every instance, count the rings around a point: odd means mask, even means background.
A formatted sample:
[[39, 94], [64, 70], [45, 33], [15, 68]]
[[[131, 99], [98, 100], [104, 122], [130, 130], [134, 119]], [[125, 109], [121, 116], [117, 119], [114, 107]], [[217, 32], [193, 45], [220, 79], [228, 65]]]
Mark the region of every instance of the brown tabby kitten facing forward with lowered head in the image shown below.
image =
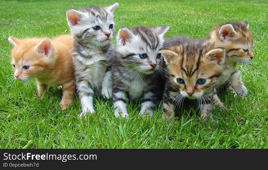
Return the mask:
[[210, 116], [211, 100], [224, 68], [225, 50], [194, 39], [183, 40], [181, 45], [160, 50], [168, 67], [161, 119], [169, 121], [181, 106], [196, 104], [204, 121], [209, 117], [215, 121]]

